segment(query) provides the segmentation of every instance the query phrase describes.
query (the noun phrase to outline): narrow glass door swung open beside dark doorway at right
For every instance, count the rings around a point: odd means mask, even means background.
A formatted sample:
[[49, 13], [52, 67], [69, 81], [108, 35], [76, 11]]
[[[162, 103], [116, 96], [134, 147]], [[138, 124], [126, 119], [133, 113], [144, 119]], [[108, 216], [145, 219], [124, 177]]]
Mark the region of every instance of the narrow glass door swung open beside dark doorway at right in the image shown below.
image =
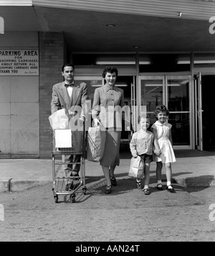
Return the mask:
[[203, 150], [202, 139], [202, 102], [201, 102], [201, 73], [198, 73], [195, 78], [195, 134], [196, 134], [196, 148]]

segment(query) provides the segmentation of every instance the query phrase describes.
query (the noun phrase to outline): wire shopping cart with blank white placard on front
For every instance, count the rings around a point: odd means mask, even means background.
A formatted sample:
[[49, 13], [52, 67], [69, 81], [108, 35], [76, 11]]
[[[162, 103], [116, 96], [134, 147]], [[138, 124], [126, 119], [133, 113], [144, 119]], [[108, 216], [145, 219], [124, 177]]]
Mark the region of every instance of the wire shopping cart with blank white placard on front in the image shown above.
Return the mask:
[[[51, 129], [52, 144], [52, 178], [55, 203], [59, 196], [64, 196], [64, 201], [75, 203], [77, 193], [86, 194], [85, 186], [85, 159], [86, 159], [86, 132], [85, 125], [82, 131], [71, 129]], [[64, 147], [66, 145], [66, 147]], [[80, 162], [71, 163], [68, 155], [80, 155]], [[78, 176], [65, 173], [67, 165], [80, 164]], [[82, 191], [80, 188], [82, 187]], [[69, 199], [67, 200], [69, 196]]]

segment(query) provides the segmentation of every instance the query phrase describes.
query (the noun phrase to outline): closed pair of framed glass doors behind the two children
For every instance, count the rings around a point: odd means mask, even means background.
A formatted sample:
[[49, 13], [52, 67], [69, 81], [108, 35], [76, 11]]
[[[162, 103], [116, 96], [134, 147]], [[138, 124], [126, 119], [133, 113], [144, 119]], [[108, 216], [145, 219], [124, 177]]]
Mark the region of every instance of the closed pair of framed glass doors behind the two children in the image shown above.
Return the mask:
[[144, 109], [156, 122], [153, 111], [164, 104], [170, 111], [173, 147], [191, 149], [191, 76], [140, 76], [137, 88], [138, 114]]

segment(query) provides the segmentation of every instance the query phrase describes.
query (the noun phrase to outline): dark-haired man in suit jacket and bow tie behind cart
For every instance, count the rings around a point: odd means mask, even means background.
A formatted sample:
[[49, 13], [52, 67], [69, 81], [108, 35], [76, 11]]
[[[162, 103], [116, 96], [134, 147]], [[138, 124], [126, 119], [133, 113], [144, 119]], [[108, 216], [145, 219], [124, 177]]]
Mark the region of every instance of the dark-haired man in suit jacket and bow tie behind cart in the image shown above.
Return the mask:
[[[87, 84], [74, 80], [75, 67], [72, 63], [62, 66], [62, 76], [64, 82], [57, 83], [52, 88], [52, 114], [59, 109], [65, 109], [69, 119], [75, 119], [78, 113], [80, 120], [83, 121], [85, 119], [85, 101], [88, 99]], [[70, 155], [70, 163], [80, 163], [80, 157], [81, 155]], [[69, 164], [65, 169], [67, 176], [78, 176], [79, 171], [80, 164]]]

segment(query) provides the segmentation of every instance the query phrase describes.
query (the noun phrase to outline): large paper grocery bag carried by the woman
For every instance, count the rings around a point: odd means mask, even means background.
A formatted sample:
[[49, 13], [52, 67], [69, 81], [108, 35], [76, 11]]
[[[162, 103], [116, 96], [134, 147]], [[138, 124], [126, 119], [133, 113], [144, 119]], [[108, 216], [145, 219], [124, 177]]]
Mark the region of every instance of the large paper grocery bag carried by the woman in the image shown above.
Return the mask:
[[87, 160], [99, 162], [105, 150], [106, 133], [100, 126], [89, 127], [87, 132]]

